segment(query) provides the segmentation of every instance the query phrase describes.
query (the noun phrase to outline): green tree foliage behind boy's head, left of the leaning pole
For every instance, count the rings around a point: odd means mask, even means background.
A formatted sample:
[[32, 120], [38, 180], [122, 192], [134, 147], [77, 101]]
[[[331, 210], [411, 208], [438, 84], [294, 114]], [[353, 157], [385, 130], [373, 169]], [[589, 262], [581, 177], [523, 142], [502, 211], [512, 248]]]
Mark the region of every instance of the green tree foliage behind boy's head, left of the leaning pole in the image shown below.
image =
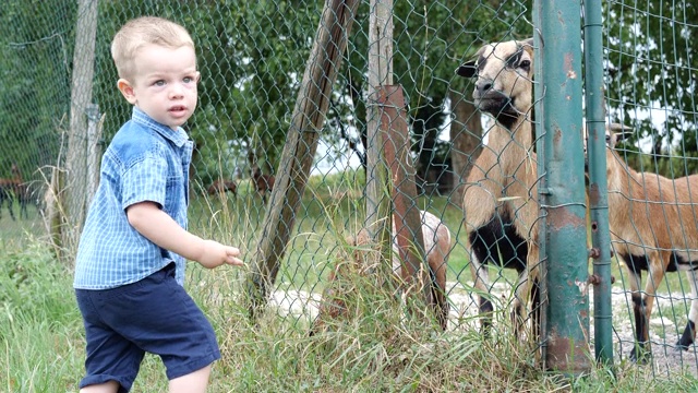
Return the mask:
[[205, 183], [219, 175], [232, 177], [248, 165], [249, 152], [265, 172], [274, 171], [317, 26], [317, 9], [268, 0], [105, 2], [99, 33], [99, 69], [105, 72], [98, 76], [97, 97], [113, 114], [106, 120], [111, 135], [131, 112], [113, 87], [118, 76], [107, 50], [109, 40], [127, 20], [155, 10], [186, 27], [196, 45], [202, 73], [198, 109], [185, 128], [196, 142], [198, 176]]

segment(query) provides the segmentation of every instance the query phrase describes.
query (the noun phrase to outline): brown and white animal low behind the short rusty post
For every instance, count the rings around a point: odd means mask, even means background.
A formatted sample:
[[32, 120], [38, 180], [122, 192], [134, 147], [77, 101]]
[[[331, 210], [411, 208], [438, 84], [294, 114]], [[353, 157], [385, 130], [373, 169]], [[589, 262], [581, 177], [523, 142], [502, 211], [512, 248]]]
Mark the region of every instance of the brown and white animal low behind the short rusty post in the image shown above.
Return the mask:
[[[429, 305], [436, 314], [436, 320], [442, 330], [446, 330], [448, 324], [448, 301], [446, 299], [446, 266], [448, 263], [448, 253], [450, 251], [450, 231], [446, 225], [435, 215], [421, 211], [422, 216], [422, 238], [424, 239], [424, 250], [426, 253], [426, 262], [430, 267], [431, 298]], [[347, 239], [347, 245], [353, 250], [350, 261], [340, 261], [335, 265], [328, 277], [328, 284], [323, 291], [323, 298], [320, 302], [317, 318], [313, 322], [310, 334], [313, 335], [324, 324], [326, 319], [336, 319], [349, 313], [346, 301], [347, 294], [341, 293], [340, 284], [342, 279], [347, 279], [350, 272], [354, 272], [361, 276], [368, 276], [373, 273], [375, 263], [369, 262], [371, 250], [366, 246], [371, 245], [371, 237], [368, 230], [361, 229], [357, 236]], [[393, 272], [397, 277], [404, 277], [402, 263], [397, 258], [398, 243], [396, 237], [395, 223], [393, 224]], [[377, 255], [377, 253], [373, 253]]]

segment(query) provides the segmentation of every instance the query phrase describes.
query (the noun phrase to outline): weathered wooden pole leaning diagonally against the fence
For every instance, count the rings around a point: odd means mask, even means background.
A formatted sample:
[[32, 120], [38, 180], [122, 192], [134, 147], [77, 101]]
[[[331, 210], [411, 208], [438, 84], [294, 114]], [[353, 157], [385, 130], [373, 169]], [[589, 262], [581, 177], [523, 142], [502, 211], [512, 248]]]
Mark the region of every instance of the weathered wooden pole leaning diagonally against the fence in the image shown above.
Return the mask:
[[255, 319], [274, 287], [325, 122], [332, 87], [341, 67], [359, 1], [327, 0], [317, 27], [291, 127], [279, 160], [256, 250], [250, 262], [248, 310]]

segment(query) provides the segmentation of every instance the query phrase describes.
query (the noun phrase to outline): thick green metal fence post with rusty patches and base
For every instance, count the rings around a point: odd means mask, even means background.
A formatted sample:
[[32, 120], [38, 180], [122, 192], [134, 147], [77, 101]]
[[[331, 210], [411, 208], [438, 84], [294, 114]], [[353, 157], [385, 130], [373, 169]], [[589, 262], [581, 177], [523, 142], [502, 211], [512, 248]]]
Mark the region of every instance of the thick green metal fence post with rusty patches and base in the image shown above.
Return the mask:
[[[581, 28], [579, 1], [534, 3], [538, 66], [539, 187], [545, 238], [547, 294], [545, 368], [589, 371], [589, 300], [583, 148], [581, 144]], [[543, 90], [543, 92], [541, 92]], [[541, 117], [542, 115], [542, 117]], [[542, 131], [542, 132], [541, 132]], [[539, 150], [539, 152], [541, 152]]]

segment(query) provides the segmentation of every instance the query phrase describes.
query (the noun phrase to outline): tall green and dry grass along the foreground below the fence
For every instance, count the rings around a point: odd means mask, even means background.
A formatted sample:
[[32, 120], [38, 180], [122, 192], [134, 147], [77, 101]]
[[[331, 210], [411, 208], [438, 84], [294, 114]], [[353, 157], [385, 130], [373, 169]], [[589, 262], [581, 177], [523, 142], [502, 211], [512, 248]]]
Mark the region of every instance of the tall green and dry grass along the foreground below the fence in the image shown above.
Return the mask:
[[[3, 251], [0, 391], [77, 391], [84, 341], [71, 272], [52, 261], [40, 242]], [[191, 287], [222, 353], [210, 392], [682, 392], [697, 383], [682, 373], [652, 377], [633, 365], [615, 372], [594, 368], [583, 378], [546, 373], [534, 366], [530, 349], [509, 335], [441, 334], [396, 311], [395, 301], [378, 291], [365, 299], [362, 312], [310, 337], [305, 329], [273, 313], [250, 322], [237, 303], [234, 281], [222, 281], [233, 295], [212, 299], [204, 286]], [[163, 392], [166, 386], [160, 361], [147, 356], [133, 391]]]

